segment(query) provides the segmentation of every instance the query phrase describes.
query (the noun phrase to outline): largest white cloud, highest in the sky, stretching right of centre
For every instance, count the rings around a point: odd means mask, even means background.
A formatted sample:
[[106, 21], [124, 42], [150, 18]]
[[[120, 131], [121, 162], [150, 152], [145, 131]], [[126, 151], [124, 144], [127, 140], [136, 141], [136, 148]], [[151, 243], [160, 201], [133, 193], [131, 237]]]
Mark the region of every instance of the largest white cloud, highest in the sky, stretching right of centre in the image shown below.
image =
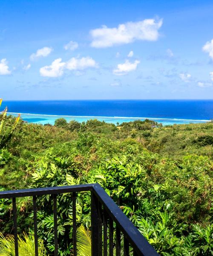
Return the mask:
[[159, 37], [158, 29], [162, 24], [162, 19], [146, 19], [119, 24], [115, 28], [102, 26], [99, 29], [92, 29], [90, 31], [92, 36], [91, 46], [104, 48], [119, 44], [129, 44], [135, 40], [156, 41]]

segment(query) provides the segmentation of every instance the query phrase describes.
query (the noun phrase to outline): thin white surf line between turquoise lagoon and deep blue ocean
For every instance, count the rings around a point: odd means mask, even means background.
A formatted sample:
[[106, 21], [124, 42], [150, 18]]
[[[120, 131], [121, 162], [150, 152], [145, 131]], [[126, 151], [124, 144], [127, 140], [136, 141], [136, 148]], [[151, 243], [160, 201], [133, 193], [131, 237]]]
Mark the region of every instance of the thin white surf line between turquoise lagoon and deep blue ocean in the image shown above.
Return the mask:
[[204, 119], [178, 119], [178, 118], [159, 118], [159, 117], [135, 117], [135, 116], [67, 116], [67, 115], [48, 115], [48, 114], [31, 114], [31, 113], [16, 113], [7, 112], [9, 114], [21, 114], [29, 116], [64, 116], [64, 117], [97, 117], [97, 118], [116, 118], [116, 119], [156, 119], [156, 120], [180, 120], [180, 121], [200, 121], [200, 122], [211, 122], [211, 120]]

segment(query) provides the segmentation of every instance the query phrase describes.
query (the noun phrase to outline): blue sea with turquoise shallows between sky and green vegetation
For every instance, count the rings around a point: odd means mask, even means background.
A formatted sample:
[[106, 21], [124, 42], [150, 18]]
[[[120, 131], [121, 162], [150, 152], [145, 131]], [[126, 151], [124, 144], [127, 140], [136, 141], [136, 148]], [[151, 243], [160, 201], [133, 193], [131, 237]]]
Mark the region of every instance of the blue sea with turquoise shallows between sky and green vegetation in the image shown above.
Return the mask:
[[164, 125], [206, 122], [213, 119], [213, 100], [48, 100], [3, 101], [1, 110], [28, 122], [51, 123], [63, 116], [68, 121], [97, 118], [106, 122], [129, 122], [149, 118]]

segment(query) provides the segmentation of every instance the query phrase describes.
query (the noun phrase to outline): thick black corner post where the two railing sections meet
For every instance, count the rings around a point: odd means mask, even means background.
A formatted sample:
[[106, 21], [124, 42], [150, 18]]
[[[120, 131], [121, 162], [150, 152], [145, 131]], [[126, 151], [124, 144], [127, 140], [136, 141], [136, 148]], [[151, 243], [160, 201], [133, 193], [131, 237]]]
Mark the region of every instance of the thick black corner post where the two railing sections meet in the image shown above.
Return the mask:
[[92, 230], [92, 256], [101, 256], [99, 252], [99, 217], [98, 198], [91, 191], [91, 230]]

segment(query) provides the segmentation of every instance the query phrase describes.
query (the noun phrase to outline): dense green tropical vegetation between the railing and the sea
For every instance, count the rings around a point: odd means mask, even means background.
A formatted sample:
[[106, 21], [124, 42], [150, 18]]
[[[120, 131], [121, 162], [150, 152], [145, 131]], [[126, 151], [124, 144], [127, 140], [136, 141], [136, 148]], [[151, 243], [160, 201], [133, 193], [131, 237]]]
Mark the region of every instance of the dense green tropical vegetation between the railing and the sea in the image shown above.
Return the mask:
[[[15, 119], [7, 116], [4, 122], [14, 124]], [[213, 253], [212, 146], [212, 122], [163, 127], [150, 120], [117, 126], [95, 119], [81, 124], [58, 119], [53, 126], [20, 121], [0, 148], [0, 186], [6, 190], [98, 182], [161, 255], [208, 256]], [[17, 202], [18, 232], [28, 233], [33, 227], [32, 200]], [[76, 203], [78, 236], [84, 237], [79, 255], [86, 255], [90, 195], [78, 193]], [[0, 201], [4, 235], [12, 232], [11, 207], [11, 200]], [[71, 255], [69, 196], [58, 196], [58, 216], [59, 252]], [[39, 198], [37, 217], [39, 237], [51, 253], [49, 196]]]

